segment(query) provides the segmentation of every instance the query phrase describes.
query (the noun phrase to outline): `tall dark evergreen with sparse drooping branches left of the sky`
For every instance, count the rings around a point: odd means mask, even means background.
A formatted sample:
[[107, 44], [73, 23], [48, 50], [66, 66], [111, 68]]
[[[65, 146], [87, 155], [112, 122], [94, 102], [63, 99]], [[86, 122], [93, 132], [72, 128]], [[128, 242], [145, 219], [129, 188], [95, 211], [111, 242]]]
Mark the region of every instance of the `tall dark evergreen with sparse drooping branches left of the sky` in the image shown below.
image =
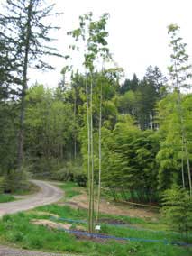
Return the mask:
[[[49, 46], [49, 32], [56, 29], [45, 20], [52, 14], [54, 5], [45, 6], [43, 0], [6, 0], [5, 14], [0, 15], [2, 37], [7, 41], [7, 50], [14, 54], [14, 71], [21, 83], [21, 114], [18, 136], [17, 167], [23, 165], [25, 96], [27, 92], [28, 68], [52, 68], [43, 61], [44, 55], [59, 56]], [[19, 175], [17, 175], [18, 180]]]

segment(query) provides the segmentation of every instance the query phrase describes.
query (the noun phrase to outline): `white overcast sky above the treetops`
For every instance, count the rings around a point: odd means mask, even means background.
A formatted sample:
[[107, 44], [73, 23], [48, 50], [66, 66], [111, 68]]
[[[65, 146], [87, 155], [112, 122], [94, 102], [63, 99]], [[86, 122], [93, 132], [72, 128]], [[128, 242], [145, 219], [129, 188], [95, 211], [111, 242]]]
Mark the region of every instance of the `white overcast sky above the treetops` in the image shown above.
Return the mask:
[[[66, 32], [77, 28], [78, 16], [93, 12], [96, 17], [107, 12], [108, 42], [114, 60], [123, 67], [125, 76], [139, 78], [149, 65], [157, 65], [166, 75], [169, 66], [169, 36], [167, 26], [177, 23], [180, 35], [188, 44], [192, 56], [192, 0], [49, 0], [55, 2], [61, 30], [57, 32], [57, 47], [68, 54], [69, 38]], [[30, 83], [35, 80], [44, 85], [56, 86], [60, 69], [67, 63], [63, 59], [52, 60], [56, 70], [45, 73], [31, 71]], [[78, 59], [74, 59], [78, 63]]]

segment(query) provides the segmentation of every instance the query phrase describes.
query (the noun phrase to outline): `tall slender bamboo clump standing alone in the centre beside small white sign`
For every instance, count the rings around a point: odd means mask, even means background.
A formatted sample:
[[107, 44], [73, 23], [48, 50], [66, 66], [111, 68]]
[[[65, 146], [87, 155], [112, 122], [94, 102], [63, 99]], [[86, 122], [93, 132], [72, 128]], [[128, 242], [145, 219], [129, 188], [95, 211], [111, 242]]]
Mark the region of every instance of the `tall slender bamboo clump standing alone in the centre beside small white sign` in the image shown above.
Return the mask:
[[[93, 91], [95, 86], [94, 72], [96, 71], [96, 61], [101, 61], [109, 57], [105, 32], [108, 14], [103, 14], [99, 20], [93, 21], [93, 14], [89, 13], [79, 17], [79, 28], [69, 32], [76, 41], [80, 40], [84, 44], [84, 66], [87, 74], [86, 96], [87, 96], [87, 177], [89, 191], [89, 210], [88, 210], [88, 231], [95, 232], [95, 160], [94, 160], [94, 126], [93, 126]], [[77, 45], [70, 46], [73, 50], [78, 50]], [[102, 90], [100, 91], [100, 100], [102, 101]], [[100, 103], [102, 107], [102, 102]], [[100, 126], [99, 138], [101, 138], [101, 110], [100, 110]], [[99, 139], [99, 151], [101, 152], [101, 140]], [[99, 162], [101, 162], [101, 153], [99, 153]], [[101, 168], [99, 169], [99, 177], [101, 176]], [[100, 180], [98, 185], [98, 202], [100, 197]], [[97, 206], [97, 209], [98, 206]], [[98, 219], [98, 213], [96, 215]], [[97, 222], [97, 221], [96, 221]]]

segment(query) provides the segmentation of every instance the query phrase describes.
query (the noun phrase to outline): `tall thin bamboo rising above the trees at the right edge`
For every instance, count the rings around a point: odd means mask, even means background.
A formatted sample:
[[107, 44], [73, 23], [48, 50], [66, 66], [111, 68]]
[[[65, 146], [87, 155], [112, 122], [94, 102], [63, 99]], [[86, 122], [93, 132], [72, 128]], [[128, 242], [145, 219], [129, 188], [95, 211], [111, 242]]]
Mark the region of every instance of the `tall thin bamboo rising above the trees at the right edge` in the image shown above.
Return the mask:
[[[179, 116], [179, 125], [181, 130], [181, 143], [182, 143], [182, 154], [185, 152], [185, 157], [187, 159], [187, 176], [190, 195], [192, 196], [192, 182], [190, 173], [190, 160], [187, 146], [187, 131], [185, 127], [185, 120], [182, 109], [182, 98], [181, 89], [185, 90], [190, 88], [189, 79], [192, 78], [192, 65], [188, 64], [187, 55], [187, 44], [182, 41], [182, 38], [178, 36], [179, 27], [177, 24], [170, 24], [168, 27], [168, 33], [170, 36], [170, 48], [172, 50], [171, 65], [169, 66], [169, 74], [172, 80], [172, 86], [176, 91], [177, 98], [177, 111]], [[183, 186], [185, 186], [184, 172], [183, 172], [183, 159], [182, 159], [182, 178]]]

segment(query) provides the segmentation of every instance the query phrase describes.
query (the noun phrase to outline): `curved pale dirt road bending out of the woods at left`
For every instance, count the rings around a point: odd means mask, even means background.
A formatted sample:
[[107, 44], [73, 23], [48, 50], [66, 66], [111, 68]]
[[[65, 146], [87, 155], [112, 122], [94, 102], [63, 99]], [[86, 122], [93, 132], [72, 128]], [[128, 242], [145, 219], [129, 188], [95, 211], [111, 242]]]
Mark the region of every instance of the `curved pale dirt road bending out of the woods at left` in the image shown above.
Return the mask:
[[40, 187], [41, 190], [33, 195], [10, 203], [0, 204], [0, 216], [14, 214], [32, 209], [36, 206], [49, 205], [59, 201], [63, 197], [63, 191], [59, 187], [51, 185], [49, 182], [32, 180], [32, 183]]

